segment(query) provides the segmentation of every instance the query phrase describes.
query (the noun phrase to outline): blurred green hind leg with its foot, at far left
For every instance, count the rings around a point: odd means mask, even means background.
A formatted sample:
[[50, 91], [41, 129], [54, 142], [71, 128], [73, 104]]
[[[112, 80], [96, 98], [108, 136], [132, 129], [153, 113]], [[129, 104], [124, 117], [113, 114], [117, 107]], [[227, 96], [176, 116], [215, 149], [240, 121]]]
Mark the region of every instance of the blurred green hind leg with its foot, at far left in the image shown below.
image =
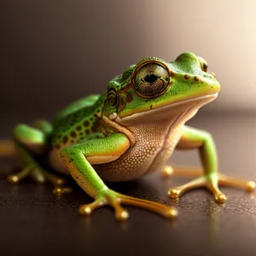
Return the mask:
[[52, 183], [57, 195], [67, 192], [67, 189], [62, 188], [67, 180], [45, 171], [36, 160], [39, 156], [44, 157], [48, 139], [47, 133], [21, 124], [15, 127], [14, 136], [17, 157], [23, 169], [18, 173], [9, 175], [9, 182], [20, 183], [26, 177], [32, 177], [38, 183], [45, 183], [46, 181]]

